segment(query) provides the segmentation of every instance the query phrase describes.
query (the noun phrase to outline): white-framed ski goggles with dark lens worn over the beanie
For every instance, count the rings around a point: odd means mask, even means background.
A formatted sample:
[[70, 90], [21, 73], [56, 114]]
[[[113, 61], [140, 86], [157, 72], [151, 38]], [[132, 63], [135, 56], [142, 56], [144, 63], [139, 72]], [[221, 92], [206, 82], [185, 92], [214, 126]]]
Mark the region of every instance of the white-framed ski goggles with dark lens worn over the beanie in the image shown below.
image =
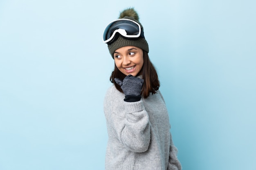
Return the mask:
[[115, 40], [117, 33], [125, 38], [144, 38], [141, 26], [129, 19], [118, 19], [110, 22], [103, 33], [103, 42], [111, 43]]

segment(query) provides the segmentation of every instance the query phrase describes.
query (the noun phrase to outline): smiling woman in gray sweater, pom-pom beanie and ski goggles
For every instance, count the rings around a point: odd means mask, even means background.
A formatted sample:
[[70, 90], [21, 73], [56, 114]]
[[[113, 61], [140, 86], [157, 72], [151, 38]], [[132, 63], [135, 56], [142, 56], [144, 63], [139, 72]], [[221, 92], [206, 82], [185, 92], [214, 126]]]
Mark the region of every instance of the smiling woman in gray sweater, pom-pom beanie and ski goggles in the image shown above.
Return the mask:
[[157, 72], [137, 12], [125, 9], [103, 33], [115, 60], [104, 100], [106, 170], [181, 170]]

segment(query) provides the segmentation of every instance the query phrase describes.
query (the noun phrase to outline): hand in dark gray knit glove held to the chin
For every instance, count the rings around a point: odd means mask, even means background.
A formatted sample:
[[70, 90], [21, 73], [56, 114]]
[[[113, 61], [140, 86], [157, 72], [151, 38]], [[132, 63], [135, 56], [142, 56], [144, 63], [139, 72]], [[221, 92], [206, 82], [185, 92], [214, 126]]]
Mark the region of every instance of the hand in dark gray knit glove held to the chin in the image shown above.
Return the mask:
[[141, 88], [144, 83], [144, 79], [127, 75], [124, 80], [115, 78], [115, 82], [119, 84], [124, 92], [126, 102], [137, 102], [141, 99]]

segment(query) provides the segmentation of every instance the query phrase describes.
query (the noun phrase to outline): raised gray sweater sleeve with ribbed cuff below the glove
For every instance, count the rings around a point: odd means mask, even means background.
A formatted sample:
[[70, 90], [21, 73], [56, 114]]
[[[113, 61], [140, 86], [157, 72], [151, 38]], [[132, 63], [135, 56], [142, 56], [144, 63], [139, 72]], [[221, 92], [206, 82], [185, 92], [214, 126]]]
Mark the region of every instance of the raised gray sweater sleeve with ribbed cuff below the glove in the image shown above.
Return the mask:
[[123, 93], [108, 94], [105, 104], [110, 134], [122, 147], [132, 152], [145, 152], [150, 144], [150, 123], [143, 101], [125, 102]]

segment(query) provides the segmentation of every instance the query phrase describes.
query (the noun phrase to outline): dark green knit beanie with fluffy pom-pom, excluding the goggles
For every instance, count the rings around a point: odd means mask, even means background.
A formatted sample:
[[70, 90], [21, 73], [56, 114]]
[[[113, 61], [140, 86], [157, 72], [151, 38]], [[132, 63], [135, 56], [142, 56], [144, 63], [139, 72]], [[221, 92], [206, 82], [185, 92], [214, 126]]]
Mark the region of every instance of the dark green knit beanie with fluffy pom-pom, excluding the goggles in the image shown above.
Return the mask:
[[[120, 13], [118, 19], [122, 19], [122, 18], [133, 20], [133, 21], [137, 22], [141, 26], [141, 32], [144, 32], [143, 26], [139, 22], [139, 15], [133, 8], [128, 8], [128, 9], [125, 9], [124, 11], [122, 11]], [[134, 39], [131, 39], [131, 38], [128, 39], [128, 38], [124, 38], [123, 36], [119, 35], [117, 40], [108, 44], [108, 50], [109, 50], [112, 58], [114, 58], [114, 52], [117, 49], [124, 47], [124, 46], [137, 46], [140, 49], [146, 51], [147, 53], [149, 51], [148, 42], [146, 41], [145, 38], [139, 37], [139, 38], [134, 38]]]

